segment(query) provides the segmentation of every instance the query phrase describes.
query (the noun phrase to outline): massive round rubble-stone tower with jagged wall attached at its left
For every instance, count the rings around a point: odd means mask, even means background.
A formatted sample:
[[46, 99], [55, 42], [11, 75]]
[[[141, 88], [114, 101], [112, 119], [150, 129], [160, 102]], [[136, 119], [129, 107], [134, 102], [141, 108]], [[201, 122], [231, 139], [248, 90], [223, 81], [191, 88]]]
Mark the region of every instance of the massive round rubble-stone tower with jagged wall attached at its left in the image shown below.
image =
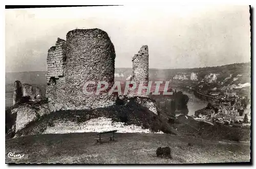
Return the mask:
[[[106, 32], [100, 29], [72, 30], [67, 33], [67, 41], [58, 39], [51, 49], [48, 51], [48, 67], [58, 67], [48, 69], [47, 76], [46, 96], [52, 111], [90, 109], [115, 103], [115, 97], [107, 93], [87, 95], [83, 92], [84, 84], [89, 81], [95, 82], [94, 89], [98, 81], [108, 82], [109, 88], [114, 84], [116, 55]], [[58, 54], [62, 54], [58, 56], [59, 62], [56, 61]]]

